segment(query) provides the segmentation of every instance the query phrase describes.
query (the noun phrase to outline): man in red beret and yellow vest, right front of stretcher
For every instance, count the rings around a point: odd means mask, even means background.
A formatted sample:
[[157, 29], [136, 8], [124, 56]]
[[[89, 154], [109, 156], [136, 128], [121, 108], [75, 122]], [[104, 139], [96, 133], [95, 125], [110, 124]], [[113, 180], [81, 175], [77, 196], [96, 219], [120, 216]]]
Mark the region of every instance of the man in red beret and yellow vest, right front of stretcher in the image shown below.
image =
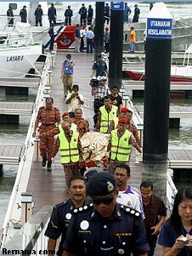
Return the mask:
[[119, 118], [118, 128], [110, 132], [110, 141], [107, 149], [110, 153], [110, 172], [114, 173], [116, 162], [129, 163], [132, 146], [139, 153], [142, 153], [133, 134], [126, 128], [126, 119]]

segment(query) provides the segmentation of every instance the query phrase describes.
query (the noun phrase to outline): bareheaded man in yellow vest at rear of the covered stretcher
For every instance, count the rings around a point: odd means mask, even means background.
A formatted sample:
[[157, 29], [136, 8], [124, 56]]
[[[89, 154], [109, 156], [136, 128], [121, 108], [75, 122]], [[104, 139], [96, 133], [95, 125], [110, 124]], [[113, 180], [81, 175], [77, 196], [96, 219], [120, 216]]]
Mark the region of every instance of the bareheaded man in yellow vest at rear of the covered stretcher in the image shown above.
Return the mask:
[[96, 128], [99, 132], [102, 134], [108, 134], [110, 121], [116, 120], [117, 115], [118, 107], [116, 105], [112, 105], [110, 96], [104, 96], [104, 105], [99, 108], [98, 121], [96, 123]]

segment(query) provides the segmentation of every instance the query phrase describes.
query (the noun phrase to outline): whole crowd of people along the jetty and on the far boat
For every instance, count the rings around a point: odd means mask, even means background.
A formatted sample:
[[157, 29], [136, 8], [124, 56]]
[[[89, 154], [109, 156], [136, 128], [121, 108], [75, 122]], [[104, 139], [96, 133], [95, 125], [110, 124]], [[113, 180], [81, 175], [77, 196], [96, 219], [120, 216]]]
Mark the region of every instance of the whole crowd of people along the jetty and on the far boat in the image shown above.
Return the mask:
[[[53, 4], [51, 8], [53, 15], [49, 13], [49, 21], [50, 27], [54, 28], [56, 10]], [[76, 52], [84, 48], [81, 38], [86, 37], [83, 26], [88, 18], [89, 25], [92, 24], [93, 16], [85, 16], [85, 9], [82, 3], [80, 25], [76, 26], [76, 37], [79, 38], [76, 40]], [[89, 9], [92, 9], [91, 5]], [[39, 13], [40, 10], [41, 6], [38, 6]], [[71, 7], [68, 6], [67, 10], [65, 23], [70, 26]], [[110, 20], [109, 11], [109, 4], [106, 3], [104, 19], [107, 23]], [[130, 14], [128, 8], [127, 14]], [[139, 14], [136, 4], [133, 19], [137, 20]], [[9, 17], [11, 20], [11, 11]], [[42, 26], [40, 16], [37, 17], [37, 26]], [[132, 31], [133, 27], [130, 34], [133, 34]], [[108, 33], [106, 29], [104, 43], [109, 49]], [[87, 42], [87, 45], [92, 53], [91, 44]], [[134, 45], [131, 52], [134, 52]], [[150, 180], [143, 180], [139, 188], [129, 184], [130, 157], [133, 147], [142, 152], [141, 140], [132, 122], [133, 112], [122, 107], [118, 87], [107, 85], [109, 71], [101, 54], [91, 69], [90, 93], [93, 96], [94, 130], [109, 135], [105, 152], [107, 162], [102, 171], [96, 168], [86, 171], [84, 168], [81, 140], [91, 128], [83, 117], [83, 95], [79, 86], [73, 84], [74, 69], [75, 61], [71, 54], [67, 54], [60, 78], [68, 111], [61, 115], [59, 109], [54, 107], [54, 99], [48, 97], [45, 106], [37, 113], [33, 131], [33, 136], [38, 131], [40, 138], [42, 168], [47, 167], [47, 171], [51, 172], [52, 160], [59, 152], [69, 195], [67, 201], [54, 206], [45, 231], [48, 252], [52, 252], [49, 255], [55, 254], [60, 236], [58, 256], [153, 256], [157, 242], [162, 246], [164, 256], [192, 255], [192, 189], [184, 187], [178, 191], [171, 216], [167, 218], [166, 205], [161, 196], [155, 194]]]

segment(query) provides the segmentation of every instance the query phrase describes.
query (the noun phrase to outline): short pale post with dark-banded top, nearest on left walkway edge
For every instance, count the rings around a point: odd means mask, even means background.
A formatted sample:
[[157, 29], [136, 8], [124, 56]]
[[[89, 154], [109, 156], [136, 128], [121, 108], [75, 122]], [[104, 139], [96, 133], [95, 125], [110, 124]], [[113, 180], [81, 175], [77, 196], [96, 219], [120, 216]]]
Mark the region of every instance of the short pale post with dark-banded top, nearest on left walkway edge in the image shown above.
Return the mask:
[[25, 224], [32, 215], [32, 194], [21, 193], [21, 224]]

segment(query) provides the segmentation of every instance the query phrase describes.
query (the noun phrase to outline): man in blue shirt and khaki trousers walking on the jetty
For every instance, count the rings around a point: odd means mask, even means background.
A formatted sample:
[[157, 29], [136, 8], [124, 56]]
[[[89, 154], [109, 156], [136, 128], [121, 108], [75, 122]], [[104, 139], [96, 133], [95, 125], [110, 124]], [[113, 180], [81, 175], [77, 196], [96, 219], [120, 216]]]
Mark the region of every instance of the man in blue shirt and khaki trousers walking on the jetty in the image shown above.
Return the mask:
[[62, 63], [60, 78], [64, 85], [65, 98], [67, 94], [71, 93], [71, 86], [73, 83], [73, 72], [75, 62], [72, 60], [71, 54], [66, 54], [66, 60]]

